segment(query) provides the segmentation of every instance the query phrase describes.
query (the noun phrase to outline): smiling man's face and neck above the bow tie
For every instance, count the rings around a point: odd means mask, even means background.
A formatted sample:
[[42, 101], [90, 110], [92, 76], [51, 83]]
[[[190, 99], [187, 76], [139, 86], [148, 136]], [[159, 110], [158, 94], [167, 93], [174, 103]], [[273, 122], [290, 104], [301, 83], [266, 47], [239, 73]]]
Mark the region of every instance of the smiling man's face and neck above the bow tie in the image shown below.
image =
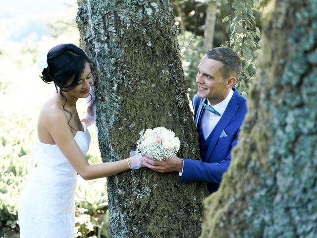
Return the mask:
[[200, 98], [208, 98], [211, 105], [220, 103], [228, 95], [226, 79], [222, 77], [219, 69], [222, 62], [209, 59], [206, 55], [198, 65], [196, 83], [198, 84], [197, 95]]

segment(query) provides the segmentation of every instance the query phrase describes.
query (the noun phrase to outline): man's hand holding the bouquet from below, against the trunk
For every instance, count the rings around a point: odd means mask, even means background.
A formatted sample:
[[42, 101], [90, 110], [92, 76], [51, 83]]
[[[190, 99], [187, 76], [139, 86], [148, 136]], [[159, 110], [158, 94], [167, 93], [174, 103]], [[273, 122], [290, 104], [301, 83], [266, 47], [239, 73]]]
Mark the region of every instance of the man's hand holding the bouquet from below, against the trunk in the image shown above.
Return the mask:
[[176, 156], [161, 161], [144, 157], [143, 165], [159, 173], [182, 172], [183, 170], [183, 160]]

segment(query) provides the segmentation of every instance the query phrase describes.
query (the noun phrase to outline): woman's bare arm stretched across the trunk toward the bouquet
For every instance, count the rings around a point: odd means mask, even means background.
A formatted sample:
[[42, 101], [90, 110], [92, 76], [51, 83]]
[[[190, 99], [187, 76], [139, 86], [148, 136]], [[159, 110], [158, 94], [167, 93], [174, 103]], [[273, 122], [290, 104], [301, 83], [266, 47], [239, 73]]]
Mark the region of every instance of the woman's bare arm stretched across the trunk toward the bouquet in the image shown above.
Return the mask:
[[[77, 173], [85, 180], [98, 179], [126, 171], [134, 157], [125, 160], [90, 165], [77, 145], [64, 112], [56, 110], [48, 117], [47, 127], [53, 140]], [[128, 160], [128, 161], [127, 161]], [[129, 162], [129, 164], [128, 164]]]

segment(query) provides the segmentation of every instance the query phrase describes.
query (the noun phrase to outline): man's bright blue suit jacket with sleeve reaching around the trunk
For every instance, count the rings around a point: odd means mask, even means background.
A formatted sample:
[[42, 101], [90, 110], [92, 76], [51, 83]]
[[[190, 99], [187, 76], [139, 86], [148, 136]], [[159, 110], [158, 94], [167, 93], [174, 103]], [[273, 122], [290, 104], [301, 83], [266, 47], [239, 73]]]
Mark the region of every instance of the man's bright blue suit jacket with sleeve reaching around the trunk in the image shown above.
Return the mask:
[[[208, 149], [204, 150], [204, 147], [200, 146], [201, 155], [204, 153], [202, 158], [203, 160], [205, 158], [205, 161], [184, 159], [181, 182], [207, 181], [209, 192], [218, 189], [222, 174], [228, 170], [231, 161], [231, 150], [237, 144], [240, 126], [247, 113], [247, 100], [235, 88], [232, 89], [234, 93], [226, 110], [212, 130], [210, 137], [206, 139], [206, 141], [209, 141]], [[194, 121], [199, 132], [201, 128], [200, 119], [203, 112], [201, 101], [207, 104], [206, 98], [194, 96]], [[228, 136], [219, 138], [223, 130]]]

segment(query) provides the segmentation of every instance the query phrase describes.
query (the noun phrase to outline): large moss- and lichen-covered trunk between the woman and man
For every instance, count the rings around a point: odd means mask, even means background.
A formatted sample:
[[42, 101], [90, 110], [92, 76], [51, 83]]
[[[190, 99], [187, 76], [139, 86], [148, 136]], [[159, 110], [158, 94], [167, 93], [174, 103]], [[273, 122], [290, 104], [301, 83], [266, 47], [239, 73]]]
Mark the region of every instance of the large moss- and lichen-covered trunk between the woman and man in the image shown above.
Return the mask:
[[[104, 162], [129, 157], [142, 129], [164, 126], [180, 157], [199, 159], [168, 0], [81, 0], [81, 44], [96, 63], [99, 147]], [[112, 238], [198, 237], [205, 183], [146, 168], [107, 179]]]

